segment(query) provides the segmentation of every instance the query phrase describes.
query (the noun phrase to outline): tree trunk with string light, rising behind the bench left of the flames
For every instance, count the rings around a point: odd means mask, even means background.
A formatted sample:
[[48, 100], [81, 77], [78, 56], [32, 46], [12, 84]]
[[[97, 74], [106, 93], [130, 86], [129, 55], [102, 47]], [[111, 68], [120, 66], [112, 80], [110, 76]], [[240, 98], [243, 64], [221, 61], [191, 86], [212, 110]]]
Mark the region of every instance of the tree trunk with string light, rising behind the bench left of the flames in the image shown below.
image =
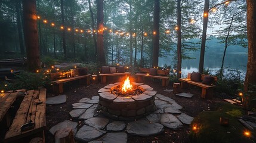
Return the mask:
[[103, 44], [103, 0], [96, 0], [97, 5], [97, 62], [99, 65], [105, 65], [105, 51]]

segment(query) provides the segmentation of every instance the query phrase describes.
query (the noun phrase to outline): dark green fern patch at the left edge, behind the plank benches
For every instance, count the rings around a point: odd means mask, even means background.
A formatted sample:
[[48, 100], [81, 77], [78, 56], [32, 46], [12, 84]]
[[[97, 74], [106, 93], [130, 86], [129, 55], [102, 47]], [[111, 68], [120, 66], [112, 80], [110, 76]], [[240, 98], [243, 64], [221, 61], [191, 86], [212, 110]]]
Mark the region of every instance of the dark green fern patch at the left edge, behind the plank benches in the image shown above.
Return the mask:
[[[39, 86], [50, 85], [50, 77], [43, 73], [30, 73], [23, 71], [20, 74], [16, 74], [17, 79], [11, 82], [2, 82], [0, 87], [5, 91], [17, 90], [17, 89], [38, 89]], [[5, 86], [7, 85], [7, 86]]]

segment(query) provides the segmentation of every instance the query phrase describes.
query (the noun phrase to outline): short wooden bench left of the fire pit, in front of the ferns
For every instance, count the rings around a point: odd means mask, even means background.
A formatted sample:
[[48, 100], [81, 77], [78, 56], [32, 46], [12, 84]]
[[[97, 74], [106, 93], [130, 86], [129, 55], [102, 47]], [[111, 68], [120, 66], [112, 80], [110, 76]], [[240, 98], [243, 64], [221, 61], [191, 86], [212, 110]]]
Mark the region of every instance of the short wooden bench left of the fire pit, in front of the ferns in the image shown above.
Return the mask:
[[53, 92], [55, 94], [62, 94], [63, 93], [63, 83], [71, 82], [73, 80], [79, 80], [80, 84], [87, 84], [90, 85], [90, 78], [91, 74], [83, 75], [83, 76], [75, 76], [75, 77], [67, 77], [65, 79], [57, 79], [53, 81]]

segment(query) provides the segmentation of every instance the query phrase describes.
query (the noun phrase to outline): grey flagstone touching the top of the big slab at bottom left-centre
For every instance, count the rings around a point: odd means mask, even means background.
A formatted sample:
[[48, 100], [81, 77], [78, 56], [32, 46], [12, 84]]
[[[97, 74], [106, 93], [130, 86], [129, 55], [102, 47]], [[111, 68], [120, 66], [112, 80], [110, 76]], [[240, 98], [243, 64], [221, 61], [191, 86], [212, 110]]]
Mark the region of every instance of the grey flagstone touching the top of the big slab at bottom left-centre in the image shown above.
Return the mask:
[[107, 123], [109, 123], [109, 119], [103, 117], [92, 117], [85, 120], [84, 123], [97, 129], [104, 129]]

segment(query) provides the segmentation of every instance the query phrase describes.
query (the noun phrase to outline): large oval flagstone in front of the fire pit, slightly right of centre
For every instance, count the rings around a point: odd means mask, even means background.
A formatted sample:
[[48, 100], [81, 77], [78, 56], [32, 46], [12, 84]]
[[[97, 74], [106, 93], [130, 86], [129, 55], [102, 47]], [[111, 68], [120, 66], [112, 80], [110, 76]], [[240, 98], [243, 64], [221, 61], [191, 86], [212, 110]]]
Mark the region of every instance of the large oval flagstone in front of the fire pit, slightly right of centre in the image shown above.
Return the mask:
[[155, 122], [150, 123], [146, 119], [136, 120], [127, 125], [127, 132], [138, 136], [156, 135], [163, 130], [163, 125]]

